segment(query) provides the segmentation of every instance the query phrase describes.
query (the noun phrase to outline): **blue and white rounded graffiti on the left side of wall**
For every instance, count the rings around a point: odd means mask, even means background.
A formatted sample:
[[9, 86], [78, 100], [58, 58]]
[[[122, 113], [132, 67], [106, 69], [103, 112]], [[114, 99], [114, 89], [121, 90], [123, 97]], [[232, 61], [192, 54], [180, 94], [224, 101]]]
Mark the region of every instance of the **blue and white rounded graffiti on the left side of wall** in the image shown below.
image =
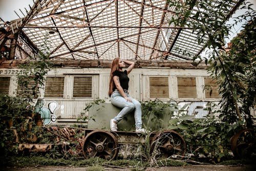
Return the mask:
[[44, 120], [44, 125], [48, 125], [51, 122], [56, 122], [56, 115], [54, 115], [54, 111], [57, 109], [57, 102], [56, 101], [50, 101], [47, 104], [47, 107], [45, 105], [45, 99], [44, 98], [38, 98], [35, 104], [35, 111], [41, 115], [41, 118]]

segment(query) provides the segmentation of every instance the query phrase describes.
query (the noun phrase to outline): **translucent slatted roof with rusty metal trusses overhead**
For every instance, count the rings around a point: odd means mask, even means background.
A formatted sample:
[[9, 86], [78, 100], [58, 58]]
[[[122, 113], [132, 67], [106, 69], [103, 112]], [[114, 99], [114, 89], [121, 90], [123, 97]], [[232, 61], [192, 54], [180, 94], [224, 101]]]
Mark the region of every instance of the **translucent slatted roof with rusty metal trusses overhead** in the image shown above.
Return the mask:
[[[189, 28], [173, 28], [174, 24], [169, 24], [169, 20], [177, 17], [176, 9], [166, 2], [36, 0], [29, 16], [23, 18], [24, 22], [19, 25], [22, 25], [22, 31], [39, 50], [44, 37], [49, 35], [53, 60], [111, 60], [115, 57], [191, 60], [203, 50], [207, 37], [204, 37], [204, 44], [198, 45], [197, 32]], [[219, 0], [200, 2], [214, 9], [222, 3]], [[221, 10], [228, 14], [237, 2], [230, 1], [227, 9]], [[198, 10], [202, 11], [201, 8], [194, 8], [190, 17]], [[0, 25], [2, 27], [3, 22]], [[11, 26], [15, 28], [16, 25], [12, 23]]]

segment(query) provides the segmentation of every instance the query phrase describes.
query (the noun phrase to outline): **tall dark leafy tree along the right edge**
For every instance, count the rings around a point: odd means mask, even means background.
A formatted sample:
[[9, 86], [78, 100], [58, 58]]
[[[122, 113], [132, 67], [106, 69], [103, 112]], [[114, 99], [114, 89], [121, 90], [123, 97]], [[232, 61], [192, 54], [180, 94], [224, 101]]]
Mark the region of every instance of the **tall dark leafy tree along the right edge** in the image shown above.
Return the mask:
[[[237, 119], [244, 120], [247, 127], [252, 127], [250, 110], [255, 110], [256, 104], [255, 26], [256, 20], [253, 18], [245, 29], [231, 40], [229, 51], [222, 52], [220, 56], [223, 60], [222, 66], [220, 66], [221, 63], [212, 63], [210, 70], [212, 76], [218, 79], [220, 94], [222, 94], [223, 112], [220, 117], [229, 123], [234, 123]], [[220, 69], [221, 67], [223, 69]], [[231, 87], [227, 86], [228, 80], [232, 84]]]

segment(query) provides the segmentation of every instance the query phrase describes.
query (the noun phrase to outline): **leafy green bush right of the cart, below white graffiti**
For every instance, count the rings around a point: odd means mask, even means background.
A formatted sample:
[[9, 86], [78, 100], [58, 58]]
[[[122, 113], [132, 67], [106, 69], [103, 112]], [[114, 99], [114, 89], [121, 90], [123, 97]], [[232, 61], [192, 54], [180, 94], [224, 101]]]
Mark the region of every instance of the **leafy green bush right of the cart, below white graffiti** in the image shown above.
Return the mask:
[[[233, 124], [222, 122], [217, 115], [220, 111], [212, 112], [203, 118], [191, 115], [175, 115], [169, 120], [168, 129], [179, 132], [187, 144], [188, 159], [207, 159], [219, 163], [232, 158], [230, 155], [230, 138], [244, 126], [243, 121]], [[178, 113], [182, 113], [183, 110]]]

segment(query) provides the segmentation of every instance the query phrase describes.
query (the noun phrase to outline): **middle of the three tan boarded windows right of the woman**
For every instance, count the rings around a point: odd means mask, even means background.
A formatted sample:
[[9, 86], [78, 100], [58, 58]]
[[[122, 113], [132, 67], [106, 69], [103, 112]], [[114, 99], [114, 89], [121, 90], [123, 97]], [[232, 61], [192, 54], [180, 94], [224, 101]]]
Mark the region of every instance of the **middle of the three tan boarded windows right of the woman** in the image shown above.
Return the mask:
[[194, 77], [178, 77], [178, 98], [196, 98], [197, 85]]

